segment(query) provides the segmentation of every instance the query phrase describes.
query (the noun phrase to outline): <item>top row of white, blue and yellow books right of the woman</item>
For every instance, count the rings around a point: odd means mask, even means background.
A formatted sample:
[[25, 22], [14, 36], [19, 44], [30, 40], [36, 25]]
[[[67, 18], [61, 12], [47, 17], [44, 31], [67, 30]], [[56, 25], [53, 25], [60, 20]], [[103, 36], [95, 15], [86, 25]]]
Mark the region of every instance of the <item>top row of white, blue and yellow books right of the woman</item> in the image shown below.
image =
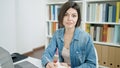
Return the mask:
[[87, 9], [87, 21], [91, 22], [119, 22], [120, 23], [120, 2], [90, 3]]

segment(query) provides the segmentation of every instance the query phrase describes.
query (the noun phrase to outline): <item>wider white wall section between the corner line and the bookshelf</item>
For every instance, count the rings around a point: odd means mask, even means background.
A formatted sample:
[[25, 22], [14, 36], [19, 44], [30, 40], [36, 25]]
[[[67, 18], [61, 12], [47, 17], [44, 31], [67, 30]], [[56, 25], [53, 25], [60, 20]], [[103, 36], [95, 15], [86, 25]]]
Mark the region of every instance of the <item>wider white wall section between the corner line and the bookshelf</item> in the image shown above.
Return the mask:
[[17, 49], [24, 53], [44, 45], [45, 0], [17, 0]]

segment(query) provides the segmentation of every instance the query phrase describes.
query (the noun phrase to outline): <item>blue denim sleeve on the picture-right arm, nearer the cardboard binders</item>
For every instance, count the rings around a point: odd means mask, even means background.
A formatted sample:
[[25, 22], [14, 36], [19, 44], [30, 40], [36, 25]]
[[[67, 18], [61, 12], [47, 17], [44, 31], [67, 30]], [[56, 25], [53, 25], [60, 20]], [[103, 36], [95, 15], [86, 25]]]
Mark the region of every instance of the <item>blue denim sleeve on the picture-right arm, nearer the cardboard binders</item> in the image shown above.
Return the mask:
[[75, 68], [96, 68], [97, 62], [96, 62], [96, 53], [94, 49], [95, 48], [93, 41], [89, 36], [89, 40], [87, 41], [87, 45], [86, 45], [86, 60], [83, 64]]

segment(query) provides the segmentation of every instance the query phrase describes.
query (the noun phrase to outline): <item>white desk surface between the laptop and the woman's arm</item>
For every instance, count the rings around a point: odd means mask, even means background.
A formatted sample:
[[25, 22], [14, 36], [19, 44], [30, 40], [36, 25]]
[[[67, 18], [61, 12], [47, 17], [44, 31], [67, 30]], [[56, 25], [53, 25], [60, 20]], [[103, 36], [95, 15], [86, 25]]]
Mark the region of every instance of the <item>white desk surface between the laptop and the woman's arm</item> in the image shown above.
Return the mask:
[[28, 62], [34, 64], [35, 66], [37, 66], [38, 68], [45, 68], [45, 67], [42, 66], [40, 59], [36, 59], [36, 58], [32, 58], [32, 57], [28, 57], [24, 60], [15, 62], [14, 64], [17, 64], [17, 63], [20, 63], [20, 62], [23, 62], [23, 61], [28, 61]]

